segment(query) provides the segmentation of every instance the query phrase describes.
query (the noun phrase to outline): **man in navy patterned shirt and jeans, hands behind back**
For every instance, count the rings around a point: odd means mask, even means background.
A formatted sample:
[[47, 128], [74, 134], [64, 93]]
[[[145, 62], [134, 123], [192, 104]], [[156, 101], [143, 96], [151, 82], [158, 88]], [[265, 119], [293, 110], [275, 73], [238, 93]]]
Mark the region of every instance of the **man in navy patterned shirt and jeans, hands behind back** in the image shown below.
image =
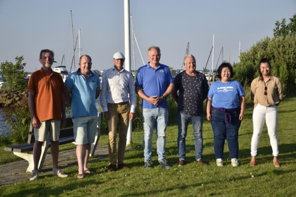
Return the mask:
[[184, 66], [185, 71], [176, 76], [175, 90], [172, 93], [178, 103], [178, 165], [185, 164], [185, 138], [190, 119], [195, 141], [195, 163], [207, 165], [202, 160], [202, 123], [203, 101], [207, 97], [209, 85], [206, 76], [195, 70], [196, 63], [193, 55], [187, 55], [184, 58]]

